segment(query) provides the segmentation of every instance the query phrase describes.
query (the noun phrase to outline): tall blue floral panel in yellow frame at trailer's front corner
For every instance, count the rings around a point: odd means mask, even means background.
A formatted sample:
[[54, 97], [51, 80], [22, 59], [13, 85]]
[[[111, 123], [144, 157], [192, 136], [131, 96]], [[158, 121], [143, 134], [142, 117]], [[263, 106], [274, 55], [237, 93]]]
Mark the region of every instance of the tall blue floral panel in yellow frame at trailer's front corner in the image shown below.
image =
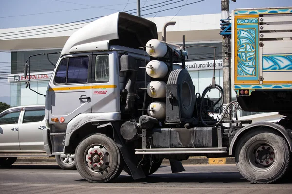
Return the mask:
[[258, 80], [257, 18], [237, 20], [237, 81]]

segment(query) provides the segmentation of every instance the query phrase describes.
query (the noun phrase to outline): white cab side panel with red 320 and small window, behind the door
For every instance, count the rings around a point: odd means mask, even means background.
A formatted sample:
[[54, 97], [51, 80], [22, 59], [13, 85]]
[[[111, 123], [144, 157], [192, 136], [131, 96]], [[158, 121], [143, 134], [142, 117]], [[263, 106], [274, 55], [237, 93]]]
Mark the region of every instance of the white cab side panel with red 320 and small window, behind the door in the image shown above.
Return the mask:
[[108, 113], [105, 119], [120, 115], [117, 52], [94, 54], [91, 77], [92, 113]]

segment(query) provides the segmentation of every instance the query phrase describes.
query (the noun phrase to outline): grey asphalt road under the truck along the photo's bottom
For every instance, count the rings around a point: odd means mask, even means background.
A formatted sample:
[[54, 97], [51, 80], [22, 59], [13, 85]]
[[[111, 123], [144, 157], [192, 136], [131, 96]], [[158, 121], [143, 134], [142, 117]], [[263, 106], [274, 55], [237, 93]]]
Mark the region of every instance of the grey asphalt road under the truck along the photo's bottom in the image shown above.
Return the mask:
[[133, 180], [123, 171], [113, 183], [89, 183], [77, 170], [57, 165], [12, 165], [0, 168], [0, 194], [292, 194], [292, 181], [252, 184], [235, 165], [184, 167], [185, 172], [172, 174], [170, 166], [162, 166], [142, 180]]

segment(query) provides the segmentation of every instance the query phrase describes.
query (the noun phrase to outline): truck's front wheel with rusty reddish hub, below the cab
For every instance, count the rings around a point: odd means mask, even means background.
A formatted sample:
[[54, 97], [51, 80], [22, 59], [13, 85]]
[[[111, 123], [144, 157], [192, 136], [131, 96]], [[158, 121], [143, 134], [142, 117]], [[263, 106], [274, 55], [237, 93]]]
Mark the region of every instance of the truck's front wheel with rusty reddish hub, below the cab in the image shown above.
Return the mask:
[[79, 174], [90, 182], [109, 182], [121, 174], [124, 166], [115, 142], [99, 133], [80, 142], [75, 162]]

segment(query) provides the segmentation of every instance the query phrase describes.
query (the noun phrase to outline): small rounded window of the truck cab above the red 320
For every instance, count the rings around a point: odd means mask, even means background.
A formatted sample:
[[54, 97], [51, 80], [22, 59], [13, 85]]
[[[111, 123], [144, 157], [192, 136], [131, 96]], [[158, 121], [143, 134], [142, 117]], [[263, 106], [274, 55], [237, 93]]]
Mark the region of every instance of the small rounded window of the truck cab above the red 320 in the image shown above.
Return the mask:
[[96, 56], [95, 80], [99, 83], [110, 81], [109, 55], [97, 55]]

